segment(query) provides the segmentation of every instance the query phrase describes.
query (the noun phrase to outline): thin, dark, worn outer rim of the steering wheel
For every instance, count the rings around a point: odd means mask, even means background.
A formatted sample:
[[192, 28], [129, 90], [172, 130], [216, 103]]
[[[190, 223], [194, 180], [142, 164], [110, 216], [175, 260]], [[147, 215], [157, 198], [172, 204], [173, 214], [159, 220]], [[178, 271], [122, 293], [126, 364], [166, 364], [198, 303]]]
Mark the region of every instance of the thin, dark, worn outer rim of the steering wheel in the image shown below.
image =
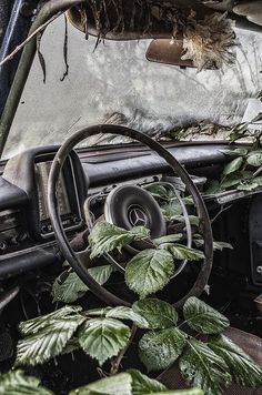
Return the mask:
[[[199, 271], [198, 277], [192, 286], [192, 288], [188, 292], [188, 294], [182, 297], [180, 301], [174, 303], [175, 307], [181, 307], [183, 303], [190, 296], [199, 296], [205, 285], [208, 284], [209, 276], [212, 269], [212, 261], [213, 261], [213, 236], [212, 236], [212, 229], [211, 223], [208, 214], [208, 210], [205, 204], [202, 200], [202, 196], [194, 185], [193, 181], [191, 180], [188, 172], [177, 161], [177, 159], [163, 148], [160, 143], [152, 140], [150, 136], [138, 132], [133, 129], [120, 126], [120, 125], [112, 125], [112, 124], [101, 124], [91, 128], [85, 128], [70, 136], [59, 149], [57, 152], [48, 181], [48, 206], [49, 206], [49, 215], [53, 226], [53, 232], [57, 237], [58, 245], [63, 254], [63, 257], [68, 261], [70, 266], [75, 271], [79, 277], [87, 284], [89, 290], [93, 292], [100, 300], [105, 302], [109, 305], [125, 305], [130, 306], [130, 303], [115, 296], [113, 293], [105, 290], [101, 286], [97, 281], [94, 281], [88, 272], [88, 269], [83, 265], [81, 257], [78, 252], [73, 251], [66, 232], [63, 230], [61, 217], [59, 214], [59, 205], [57, 199], [57, 191], [58, 191], [58, 183], [61, 169], [63, 166], [64, 161], [67, 160], [69, 153], [73, 150], [73, 148], [80, 143], [81, 141], [85, 140], [87, 138], [91, 138], [95, 134], [117, 134], [122, 135], [132, 140], [137, 140], [140, 143], [147, 145], [152, 151], [154, 151], [159, 156], [161, 156], [167, 164], [172, 169], [172, 171], [182, 180], [184, 183], [188, 192], [192, 195], [194, 205], [200, 219], [200, 226], [201, 233], [204, 239], [204, 256], [203, 263]], [[120, 191], [121, 192], [121, 191]], [[147, 192], [147, 199], [151, 198], [150, 193]], [[135, 192], [135, 195], [138, 193]], [[143, 199], [143, 198], [141, 198]], [[111, 196], [112, 200], [112, 196]], [[157, 203], [157, 202], [155, 202]], [[110, 204], [110, 200], [109, 203]], [[131, 204], [132, 205], [132, 204]], [[139, 206], [140, 207], [140, 206]], [[127, 227], [127, 226], [125, 226]]]

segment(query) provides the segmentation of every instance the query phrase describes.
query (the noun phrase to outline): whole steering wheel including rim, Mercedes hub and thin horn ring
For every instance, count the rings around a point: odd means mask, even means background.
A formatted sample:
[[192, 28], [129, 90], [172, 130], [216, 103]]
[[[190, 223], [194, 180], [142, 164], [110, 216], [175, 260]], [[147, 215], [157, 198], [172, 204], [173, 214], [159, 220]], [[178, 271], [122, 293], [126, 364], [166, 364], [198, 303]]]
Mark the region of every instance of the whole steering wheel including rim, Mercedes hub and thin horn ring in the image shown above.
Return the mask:
[[[211, 223], [202, 196], [198, 188], [194, 185], [193, 181], [191, 180], [190, 175], [185, 171], [185, 169], [177, 161], [177, 159], [168, 150], [165, 150], [160, 143], [152, 140], [150, 136], [125, 126], [103, 124], [103, 125], [97, 125], [97, 126], [83, 129], [77, 132], [74, 135], [72, 135], [63, 143], [63, 145], [59, 149], [57, 155], [54, 156], [50, 175], [49, 175], [49, 185], [48, 185], [49, 214], [53, 225], [54, 234], [57, 236], [58, 244], [64, 255], [64, 259], [68, 261], [71, 267], [77, 272], [80, 278], [88, 285], [90, 291], [92, 291], [98, 297], [100, 297], [105, 303], [111, 305], [130, 305], [127, 301], [119, 298], [113, 293], [107, 291], [103, 286], [99, 285], [88, 273], [88, 269], [93, 266], [93, 263], [90, 260], [88, 241], [87, 241], [89, 231], [92, 229], [94, 222], [92, 215], [90, 215], [91, 200], [88, 199], [84, 204], [84, 213], [85, 213], [85, 222], [87, 222], [88, 231], [81, 234], [82, 237], [82, 239], [80, 237], [81, 240], [75, 237], [75, 240], [73, 240], [71, 243], [68, 241], [66, 232], [62, 227], [61, 219], [59, 215], [59, 209], [58, 209], [57, 190], [58, 190], [59, 175], [62, 165], [67, 160], [69, 153], [73, 150], [73, 148], [78, 143], [85, 140], [87, 138], [93, 136], [95, 134], [108, 134], [108, 133], [128, 136], [132, 140], [137, 140], [140, 143], [143, 143], [144, 145], [150, 148], [155, 153], [158, 153], [172, 169], [174, 174], [181, 179], [182, 183], [185, 186], [185, 190], [192, 195], [198, 212], [198, 216], [200, 220], [201, 229], [202, 229], [205, 260], [202, 263], [202, 266], [199, 271], [198, 277], [192, 288], [188, 292], [188, 294], [184, 297], [182, 297], [180, 301], [175, 303], [175, 306], [180, 307], [181, 305], [183, 305], [183, 303], [187, 301], [189, 296], [193, 296], [193, 295], [199, 296], [208, 284], [208, 280], [212, 269], [212, 260], [213, 260], [213, 237], [212, 237]], [[192, 230], [191, 230], [188, 211], [180, 193], [175, 190], [175, 188], [172, 184], [171, 186], [174, 190], [174, 195], [181, 205], [182, 213], [184, 216], [187, 246], [191, 247]], [[127, 190], [127, 188], [129, 190]], [[147, 204], [144, 204], [143, 199], [147, 201]], [[114, 210], [112, 210], [112, 204], [114, 204]], [[153, 215], [151, 214], [151, 210], [152, 212], [154, 211], [157, 221], [153, 221]], [[122, 216], [119, 216], [118, 214], [119, 211], [122, 212]], [[150, 195], [149, 192], [147, 192], [145, 190], [139, 186], [125, 185], [125, 188], [120, 186], [113, 190], [112, 193], [109, 194], [109, 196], [105, 200], [104, 216], [108, 222], [111, 222], [114, 225], [127, 230], [130, 230], [133, 226], [145, 225], [149, 229], [151, 229], [152, 239], [161, 237], [167, 234], [165, 222], [163, 221], [162, 213], [160, 211], [160, 207], [158, 206], [157, 201]], [[130, 249], [133, 249], [134, 252], [137, 253], [140, 250], [135, 244], [131, 245]], [[147, 249], [147, 246], [143, 246], [142, 249]], [[120, 272], [124, 272], [124, 269], [114, 260], [113, 255], [105, 254], [104, 257], [107, 259], [108, 262], [113, 264]], [[181, 263], [174, 276], [180, 274], [185, 265], [187, 265], [187, 260], [184, 260]]]

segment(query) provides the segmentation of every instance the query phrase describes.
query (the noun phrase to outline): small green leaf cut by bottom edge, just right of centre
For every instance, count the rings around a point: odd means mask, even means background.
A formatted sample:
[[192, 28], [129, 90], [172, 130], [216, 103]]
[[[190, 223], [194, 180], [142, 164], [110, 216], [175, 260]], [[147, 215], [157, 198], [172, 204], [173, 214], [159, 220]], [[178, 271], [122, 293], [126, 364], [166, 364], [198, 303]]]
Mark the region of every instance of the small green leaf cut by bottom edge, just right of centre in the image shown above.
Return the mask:
[[149, 378], [137, 369], [128, 369], [127, 373], [132, 377], [132, 395], [167, 394], [167, 387], [157, 379]]

